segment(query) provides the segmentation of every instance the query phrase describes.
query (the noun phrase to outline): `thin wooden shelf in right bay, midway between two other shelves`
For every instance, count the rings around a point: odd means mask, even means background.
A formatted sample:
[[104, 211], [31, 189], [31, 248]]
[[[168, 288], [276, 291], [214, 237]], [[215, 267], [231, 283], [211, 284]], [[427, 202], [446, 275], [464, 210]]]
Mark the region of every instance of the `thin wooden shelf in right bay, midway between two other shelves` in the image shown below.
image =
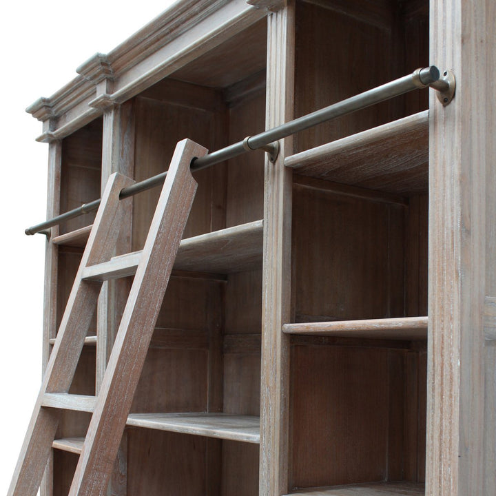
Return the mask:
[[326, 335], [337, 338], [426, 340], [427, 324], [427, 317], [339, 320], [284, 324], [282, 331], [288, 334]]

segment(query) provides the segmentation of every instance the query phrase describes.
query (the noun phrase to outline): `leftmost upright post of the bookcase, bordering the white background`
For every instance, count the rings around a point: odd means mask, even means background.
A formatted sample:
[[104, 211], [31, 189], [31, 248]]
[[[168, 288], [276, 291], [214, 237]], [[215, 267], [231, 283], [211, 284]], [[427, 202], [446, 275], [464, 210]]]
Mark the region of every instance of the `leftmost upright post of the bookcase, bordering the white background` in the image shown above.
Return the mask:
[[[47, 218], [60, 214], [60, 188], [62, 168], [62, 142], [53, 141], [48, 148], [48, 196]], [[45, 282], [43, 297], [43, 354], [42, 366], [45, 373], [50, 358], [50, 338], [56, 334], [57, 309], [57, 274], [59, 266], [59, 249], [52, 239], [59, 234], [59, 226], [52, 227], [51, 236], [45, 247]], [[41, 496], [53, 493], [53, 453], [48, 458], [45, 475], [40, 486]]]

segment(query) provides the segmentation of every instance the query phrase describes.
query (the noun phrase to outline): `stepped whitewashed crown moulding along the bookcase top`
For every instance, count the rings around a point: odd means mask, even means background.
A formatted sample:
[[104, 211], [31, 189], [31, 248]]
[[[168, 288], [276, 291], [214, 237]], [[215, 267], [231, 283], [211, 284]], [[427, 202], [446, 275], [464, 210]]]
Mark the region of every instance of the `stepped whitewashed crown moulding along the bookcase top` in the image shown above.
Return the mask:
[[[79, 75], [50, 98], [28, 107], [30, 114], [51, 123], [43, 126], [38, 141], [50, 142], [72, 134], [106, 107], [131, 99], [266, 14], [245, 0], [176, 3], [109, 54], [99, 54], [107, 61], [105, 71], [111, 73], [105, 75], [112, 76], [111, 94], [102, 92], [98, 77]], [[81, 72], [85, 72], [84, 66]]]

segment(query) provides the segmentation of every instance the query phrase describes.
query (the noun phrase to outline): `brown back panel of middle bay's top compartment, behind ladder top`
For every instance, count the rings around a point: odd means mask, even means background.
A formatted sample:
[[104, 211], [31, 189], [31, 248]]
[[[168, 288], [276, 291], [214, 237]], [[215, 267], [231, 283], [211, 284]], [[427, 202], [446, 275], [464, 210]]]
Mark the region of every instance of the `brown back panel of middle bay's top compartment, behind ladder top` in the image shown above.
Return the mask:
[[[189, 138], [208, 149], [216, 149], [218, 135], [222, 132], [222, 112], [218, 117], [206, 110], [152, 99], [136, 99], [135, 180], [165, 172], [178, 141]], [[224, 136], [226, 134], [224, 132]], [[223, 165], [197, 172], [194, 177], [198, 181], [198, 189], [184, 238], [220, 229], [225, 223]], [[160, 191], [157, 187], [134, 196], [134, 250], [144, 245]]]

